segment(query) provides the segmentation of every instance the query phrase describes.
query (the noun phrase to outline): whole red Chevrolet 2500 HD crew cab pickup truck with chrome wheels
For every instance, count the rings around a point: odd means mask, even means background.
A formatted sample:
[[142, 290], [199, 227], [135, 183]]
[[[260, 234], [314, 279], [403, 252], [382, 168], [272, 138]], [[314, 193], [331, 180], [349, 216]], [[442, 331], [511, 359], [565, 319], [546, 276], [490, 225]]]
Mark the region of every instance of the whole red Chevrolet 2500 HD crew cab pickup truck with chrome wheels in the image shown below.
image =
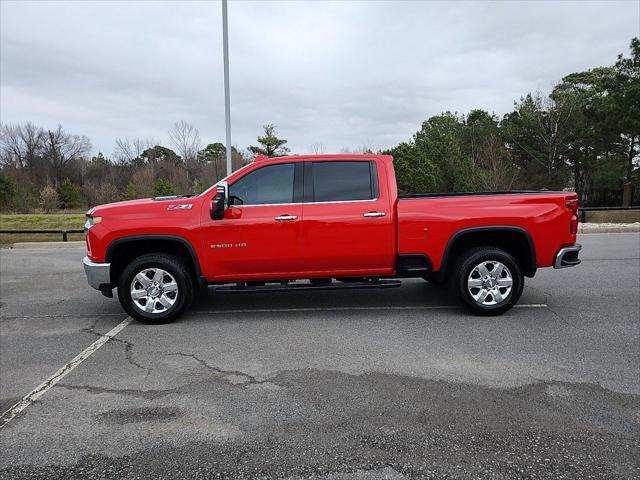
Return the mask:
[[448, 282], [497, 315], [540, 267], [578, 265], [572, 192], [398, 196], [387, 155], [261, 158], [197, 196], [87, 213], [89, 284], [117, 288], [144, 323], [168, 322], [208, 286], [256, 292]]

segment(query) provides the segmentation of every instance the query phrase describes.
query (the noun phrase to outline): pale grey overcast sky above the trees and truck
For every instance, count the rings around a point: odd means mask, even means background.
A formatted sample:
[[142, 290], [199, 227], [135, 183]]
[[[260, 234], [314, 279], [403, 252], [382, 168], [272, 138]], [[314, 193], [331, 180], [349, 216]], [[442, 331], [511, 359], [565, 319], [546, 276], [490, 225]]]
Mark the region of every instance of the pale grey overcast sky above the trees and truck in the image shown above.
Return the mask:
[[[111, 155], [177, 120], [224, 142], [220, 2], [1, 2], [2, 122], [61, 123]], [[640, 1], [229, 3], [232, 142], [275, 123], [294, 153], [408, 140], [426, 118], [498, 115], [614, 63]]]

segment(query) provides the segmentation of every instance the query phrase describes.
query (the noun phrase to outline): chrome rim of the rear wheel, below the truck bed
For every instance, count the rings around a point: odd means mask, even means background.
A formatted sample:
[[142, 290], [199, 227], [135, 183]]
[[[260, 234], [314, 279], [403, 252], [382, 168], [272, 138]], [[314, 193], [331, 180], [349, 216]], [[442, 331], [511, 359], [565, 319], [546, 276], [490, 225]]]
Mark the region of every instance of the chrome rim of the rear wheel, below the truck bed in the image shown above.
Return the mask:
[[476, 265], [467, 279], [469, 293], [479, 305], [498, 305], [511, 294], [513, 278], [503, 263], [488, 260]]

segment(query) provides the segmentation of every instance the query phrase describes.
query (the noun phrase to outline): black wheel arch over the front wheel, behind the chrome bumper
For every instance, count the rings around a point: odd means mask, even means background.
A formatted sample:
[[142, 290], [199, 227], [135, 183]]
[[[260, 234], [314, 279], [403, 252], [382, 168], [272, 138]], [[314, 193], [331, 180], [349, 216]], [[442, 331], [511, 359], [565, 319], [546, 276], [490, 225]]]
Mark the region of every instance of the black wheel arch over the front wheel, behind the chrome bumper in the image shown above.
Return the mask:
[[202, 286], [204, 277], [198, 254], [187, 239], [177, 235], [133, 235], [113, 240], [105, 255], [105, 261], [111, 264], [111, 284], [118, 282], [120, 274], [131, 260], [148, 253], [170, 254], [182, 259], [190, 267], [196, 285]]

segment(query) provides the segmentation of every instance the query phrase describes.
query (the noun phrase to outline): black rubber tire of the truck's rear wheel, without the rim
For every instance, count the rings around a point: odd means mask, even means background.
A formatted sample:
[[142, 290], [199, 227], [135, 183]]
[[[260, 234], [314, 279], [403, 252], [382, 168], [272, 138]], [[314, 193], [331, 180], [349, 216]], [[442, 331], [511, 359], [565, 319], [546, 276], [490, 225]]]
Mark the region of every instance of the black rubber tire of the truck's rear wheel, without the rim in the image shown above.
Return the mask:
[[[511, 275], [512, 285], [511, 290], [504, 300], [496, 303], [495, 305], [481, 304], [472, 295], [472, 291], [476, 294], [481, 293], [481, 287], [475, 288], [469, 285], [469, 276], [471, 272], [483, 262], [500, 262], [507, 269]], [[480, 247], [474, 248], [462, 254], [454, 271], [451, 275], [451, 287], [455, 294], [460, 298], [462, 304], [472, 313], [476, 315], [500, 315], [507, 310], [511, 309], [520, 299], [522, 290], [524, 288], [524, 275], [522, 274], [522, 268], [518, 264], [515, 258], [513, 258], [508, 252], [495, 247]], [[506, 275], [505, 272], [503, 275]], [[470, 291], [470, 288], [472, 289]], [[503, 295], [507, 289], [501, 289], [496, 296]], [[486, 297], [486, 301], [496, 301], [491, 297], [489, 293]], [[489, 300], [491, 298], [491, 300]]]

